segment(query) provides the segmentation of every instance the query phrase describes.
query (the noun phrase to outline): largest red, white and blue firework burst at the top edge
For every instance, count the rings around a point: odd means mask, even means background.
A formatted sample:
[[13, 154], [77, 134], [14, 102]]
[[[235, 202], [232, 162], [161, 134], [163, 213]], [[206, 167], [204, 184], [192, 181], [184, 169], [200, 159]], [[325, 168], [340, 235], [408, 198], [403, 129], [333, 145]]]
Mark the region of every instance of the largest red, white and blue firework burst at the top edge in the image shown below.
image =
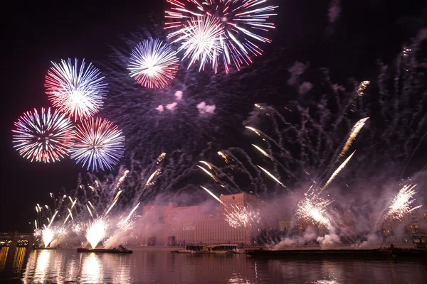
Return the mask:
[[[269, 22], [277, 6], [268, 5], [268, 0], [169, 0], [171, 9], [166, 11], [166, 28], [185, 29], [188, 18], [212, 16], [218, 20], [224, 33], [221, 35], [223, 65], [228, 72], [229, 65], [249, 65], [251, 56], [261, 55], [256, 43], [270, 43], [263, 34], [275, 28]], [[218, 62], [214, 60], [214, 64]]]

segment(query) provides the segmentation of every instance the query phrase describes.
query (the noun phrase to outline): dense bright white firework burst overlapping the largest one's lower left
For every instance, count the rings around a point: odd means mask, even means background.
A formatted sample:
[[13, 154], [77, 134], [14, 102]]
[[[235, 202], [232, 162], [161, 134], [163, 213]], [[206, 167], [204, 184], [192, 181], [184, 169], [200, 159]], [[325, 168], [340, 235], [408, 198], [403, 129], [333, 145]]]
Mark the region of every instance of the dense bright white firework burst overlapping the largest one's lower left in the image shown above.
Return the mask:
[[216, 72], [224, 33], [220, 23], [213, 16], [191, 18], [183, 24], [183, 28], [170, 33], [168, 37], [176, 37], [174, 43], [181, 42], [178, 51], [185, 50], [184, 58], [189, 58], [189, 67], [199, 61], [201, 70], [207, 63], [211, 63]]

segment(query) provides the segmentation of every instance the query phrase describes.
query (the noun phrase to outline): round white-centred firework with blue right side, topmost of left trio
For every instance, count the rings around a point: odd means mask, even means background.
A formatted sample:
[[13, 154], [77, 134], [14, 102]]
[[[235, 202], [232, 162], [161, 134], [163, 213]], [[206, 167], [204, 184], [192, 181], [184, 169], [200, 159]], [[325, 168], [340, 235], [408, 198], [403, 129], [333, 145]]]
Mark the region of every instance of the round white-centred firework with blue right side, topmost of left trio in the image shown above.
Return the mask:
[[100, 77], [100, 70], [85, 60], [78, 67], [77, 58], [74, 64], [71, 59], [61, 60], [60, 64], [52, 62], [53, 67], [46, 75], [46, 94], [54, 107], [68, 116], [88, 118], [96, 114], [102, 106], [102, 98], [107, 93]]

